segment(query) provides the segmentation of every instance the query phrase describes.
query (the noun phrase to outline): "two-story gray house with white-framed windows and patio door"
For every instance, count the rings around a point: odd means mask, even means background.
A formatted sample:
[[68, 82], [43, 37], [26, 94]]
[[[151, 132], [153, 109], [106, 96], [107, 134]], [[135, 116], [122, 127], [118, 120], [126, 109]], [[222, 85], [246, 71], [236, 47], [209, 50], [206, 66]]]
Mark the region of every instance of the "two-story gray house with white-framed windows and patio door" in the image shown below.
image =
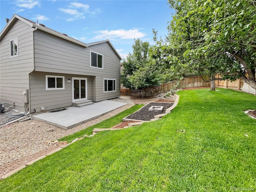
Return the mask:
[[109, 40], [85, 44], [14, 14], [0, 34], [0, 101], [44, 112], [120, 96]]

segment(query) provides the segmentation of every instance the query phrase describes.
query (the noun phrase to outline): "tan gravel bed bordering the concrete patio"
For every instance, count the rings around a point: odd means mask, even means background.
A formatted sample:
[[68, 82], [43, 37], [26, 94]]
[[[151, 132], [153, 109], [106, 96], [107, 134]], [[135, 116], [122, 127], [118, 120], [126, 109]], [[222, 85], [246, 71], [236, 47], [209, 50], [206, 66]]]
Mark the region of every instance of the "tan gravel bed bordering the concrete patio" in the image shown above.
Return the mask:
[[[58, 140], [59, 138], [97, 124], [130, 108], [132, 105], [126, 104], [69, 130], [63, 130], [38, 120], [27, 120], [2, 126], [0, 128], [0, 177], [58, 148], [56, 144], [49, 144], [50, 141]], [[1, 114], [0, 118], [1, 122], [7, 121], [7, 117], [4, 114]]]

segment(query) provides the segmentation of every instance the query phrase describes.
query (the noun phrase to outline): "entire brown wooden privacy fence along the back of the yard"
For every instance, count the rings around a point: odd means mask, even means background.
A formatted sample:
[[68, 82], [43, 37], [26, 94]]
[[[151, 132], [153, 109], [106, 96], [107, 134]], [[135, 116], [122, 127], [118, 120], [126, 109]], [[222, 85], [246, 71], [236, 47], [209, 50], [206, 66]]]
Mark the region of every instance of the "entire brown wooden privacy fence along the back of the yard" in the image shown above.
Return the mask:
[[[220, 74], [216, 74], [215, 78], [220, 78]], [[133, 97], [141, 97], [143, 96], [152, 96], [158, 95], [160, 93], [167, 93], [169, 91], [176, 90], [178, 88], [190, 88], [190, 87], [202, 87], [202, 86], [210, 86], [210, 82], [204, 82], [204, 80], [208, 80], [208, 76], [200, 76], [196, 77], [188, 77], [184, 78], [180, 81], [172, 81], [165, 84], [161, 84], [160, 86], [148, 87], [144, 90], [130, 90], [130, 89], [121, 89], [121, 96], [133, 96]], [[236, 81], [230, 80], [216, 80], [215, 86], [218, 88], [229, 88], [234, 90], [240, 90], [246, 93], [256, 95], [256, 90], [249, 86], [246, 82], [241, 79], [237, 79]]]

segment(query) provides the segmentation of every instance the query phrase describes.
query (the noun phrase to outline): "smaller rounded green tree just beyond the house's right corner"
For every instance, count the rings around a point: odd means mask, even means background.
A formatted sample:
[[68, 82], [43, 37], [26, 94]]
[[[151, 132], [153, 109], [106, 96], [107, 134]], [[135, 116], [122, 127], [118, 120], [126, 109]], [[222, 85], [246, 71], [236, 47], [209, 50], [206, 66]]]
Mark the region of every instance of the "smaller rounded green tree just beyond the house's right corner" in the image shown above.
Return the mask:
[[126, 88], [143, 90], [158, 85], [159, 75], [148, 56], [149, 47], [148, 42], [134, 40], [133, 53], [129, 54], [127, 60], [123, 62], [121, 73], [121, 83]]

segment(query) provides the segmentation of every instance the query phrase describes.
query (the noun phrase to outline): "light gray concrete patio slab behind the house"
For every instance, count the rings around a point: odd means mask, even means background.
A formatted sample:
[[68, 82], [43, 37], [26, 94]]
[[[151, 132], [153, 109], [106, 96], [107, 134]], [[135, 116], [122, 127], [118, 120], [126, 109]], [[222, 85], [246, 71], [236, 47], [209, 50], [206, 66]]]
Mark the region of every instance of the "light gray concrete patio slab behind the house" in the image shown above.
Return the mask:
[[36, 120], [44, 121], [65, 130], [78, 126], [84, 122], [95, 119], [116, 108], [126, 105], [126, 102], [116, 102], [104, 100], [96, 102], [93, 105], [78, 107], [68, 107], [59, 112], [45, 112], [33, 115]]

